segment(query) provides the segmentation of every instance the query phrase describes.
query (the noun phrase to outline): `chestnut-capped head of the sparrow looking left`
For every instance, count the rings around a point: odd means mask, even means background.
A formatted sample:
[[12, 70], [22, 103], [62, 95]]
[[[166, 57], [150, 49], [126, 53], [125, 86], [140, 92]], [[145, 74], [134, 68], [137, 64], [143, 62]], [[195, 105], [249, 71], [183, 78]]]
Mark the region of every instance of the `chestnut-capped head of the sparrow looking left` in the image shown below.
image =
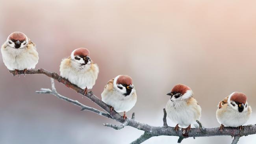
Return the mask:
[[193, 92], [190, 87], [182, 84], [177, 84], [167, 95], [171, 96], [172, 102], [176, 102], [190, 98], [191, 96], [193, 96]]

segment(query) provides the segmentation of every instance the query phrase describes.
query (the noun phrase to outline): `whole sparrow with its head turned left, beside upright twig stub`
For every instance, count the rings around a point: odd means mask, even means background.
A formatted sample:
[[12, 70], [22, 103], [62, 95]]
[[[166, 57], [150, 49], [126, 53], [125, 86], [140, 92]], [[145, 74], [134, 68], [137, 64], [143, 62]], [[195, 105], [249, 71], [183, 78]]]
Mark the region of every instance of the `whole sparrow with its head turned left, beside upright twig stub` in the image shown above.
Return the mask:
[[182, 84], [177, 84], [167, 95], [171, 96], [166, 105], [167, 116], [177, 123], [175, 130], [178, 131], [179, 126], [187, 127], [190, 130], [191, 124], [197, 127], [196, 120], [200, 120], [201, 107], [197, 100], [193, 98], [192, 90]]

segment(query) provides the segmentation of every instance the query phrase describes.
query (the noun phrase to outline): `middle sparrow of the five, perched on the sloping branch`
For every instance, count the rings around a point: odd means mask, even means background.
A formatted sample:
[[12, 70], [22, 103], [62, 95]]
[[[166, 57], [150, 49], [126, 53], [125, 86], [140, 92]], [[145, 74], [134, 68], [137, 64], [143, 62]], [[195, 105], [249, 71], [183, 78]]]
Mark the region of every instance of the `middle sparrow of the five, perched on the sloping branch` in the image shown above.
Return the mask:
[[132, 84], [132, 78], [127, 75], [119, 75], [108, 81], [101, 93], [102, 101], [117, 112], [130, 111], [137, 101], [137, 95]]

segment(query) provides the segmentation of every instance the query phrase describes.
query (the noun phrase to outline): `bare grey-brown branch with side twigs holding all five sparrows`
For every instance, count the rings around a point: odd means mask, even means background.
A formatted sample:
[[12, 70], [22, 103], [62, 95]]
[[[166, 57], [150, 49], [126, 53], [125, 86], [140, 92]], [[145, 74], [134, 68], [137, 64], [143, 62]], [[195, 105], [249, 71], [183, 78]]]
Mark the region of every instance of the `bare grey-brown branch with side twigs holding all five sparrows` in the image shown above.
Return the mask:
[[[15, 71], [10, 70], [9, 72], [11, 74], [13, 74], [13, 76], [16, 75]], [[20, 71], [18, 71], [18, 74], [24, 74], [24, 71], [20, 70]], [[26, 74], [44, 74], [50, 78], [57, 80], [59, 83], [62, 83], [63, 85], [69, 84], [69, 81], [67, 79], [62, 78], [57, 73], [51, 73], [42, 68], [38, 69], [38, 70], [27, 70]], [[100, 114], [102, 116], [112, 118], [112, 119], [116, 120], [117, 122], [120, 122], [121, 124], [123, 124], [125, 122], [125, 120], [119, 113], [117, 113], [114, 110], [110, 111], [109, 106], [106, 103], [102, 102], [91, 91], [88, 92], [87, 95], [85, 95], [85, 96], [87, 98], [89, 98], [91, 101], [93, 101], [94, 103], [96, 103], [98, 106], [100, 106], [102, 109], [104, 109], [109, 114], [99, 111], [97, 109], [94, 109], [92, 107], [87, 107], [86, 105], [83, 105], [82, 103], [80, 103], [78, 101], [61, 96], [56, 91], [54, 91], [54, 89], [55, 89], [54, 85], [52, 85], [52, 87], [53, 87], [52, 90], [41, 89], [41, 91], [37, 91], [37, 93], [53, 94], [54, 96], [56, 96], [62, 100], [65, 100], [67, 102], [73, 103], [74, 105], [81, 107], [82, 110], [84, 109], [84, 110], [92, 111], [92, 112]], [[70, 84], [69, 88], [72, 90], [75, 90], [76, 92], [81, 94], [81, 96], [84, 95], [83, 89], [77, 87], [76, 85]], [[165, 117], [165, 114], [164, 114], [164, 117]], [[164, 123], [165, 123], [165, 119], [166, 118], [163, 118]], [[127, 118], [126, 120], [129, 122], [128, 126], [145, 131], [145, 133], [143, 135], [141, 135], [141, 137], [139, 137], [137, 140], [132, 142], [133, 144], [141, 143], [150, 137], [155, 137], [155, 136], [160, 136], [160, 135], [184, 137], [184, 135], [182, 134], [182, 131], [184, 131], [184, 129], [181, 129], [178, 132], [176, 132], [174, 130], [174, 127], [170, 127], [170, 126], [160, 126], [160, 127], [150, 126], [148, 124], [141, 123], [141, 122], [135, 120], [134, 116], [132, 116], [132, 118]], [[200, 122], [198, 124], [200, 126]], [[187, 137], [193, 137], [193, 138], [195, 138], [195, 137], [211, 137], [211, 136], [220, 136], [220, 135], [222, 135], [222, 136], [224, 136], [224, 135], [226, 135], [226, 136], [227, 135], [229, 135], [229, 136], [239, 135], [239, 137], [242, 137], [242, 136], [246, 136], [246, 135], [256, 134], [256, 125], [244, 126], [243, 131], [240, 131], [236, 127], [224, 127], [223, 131], [220, 132], [219, 127], [204, 128], [204, 127], [202, 127], [202, 124], [201, 124], [201, 126], [199, 128], [191, 128], [191, 130], [187, 134], [188, 134]], [[184, 138], [187, 138], [187, 137], [184, 137]], [[238, 139], [239, 139], [238, 136], [236, 136], [235, 139], [236, 140], [234, 140], [233, 142], [238, 141]]]

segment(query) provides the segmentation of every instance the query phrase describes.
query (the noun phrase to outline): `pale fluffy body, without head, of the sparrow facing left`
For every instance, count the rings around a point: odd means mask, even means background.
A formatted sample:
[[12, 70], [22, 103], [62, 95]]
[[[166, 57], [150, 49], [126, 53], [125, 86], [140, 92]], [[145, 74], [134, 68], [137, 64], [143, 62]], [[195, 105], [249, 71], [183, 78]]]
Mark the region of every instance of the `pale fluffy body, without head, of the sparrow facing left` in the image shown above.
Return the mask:
[[166, 105], [166, 113], [172, 122], [185, 128], [190, 124], [195, 124], [196, 120], [200, 120], [201, 107], [193, 97], [175, 103], [169, 100]]

